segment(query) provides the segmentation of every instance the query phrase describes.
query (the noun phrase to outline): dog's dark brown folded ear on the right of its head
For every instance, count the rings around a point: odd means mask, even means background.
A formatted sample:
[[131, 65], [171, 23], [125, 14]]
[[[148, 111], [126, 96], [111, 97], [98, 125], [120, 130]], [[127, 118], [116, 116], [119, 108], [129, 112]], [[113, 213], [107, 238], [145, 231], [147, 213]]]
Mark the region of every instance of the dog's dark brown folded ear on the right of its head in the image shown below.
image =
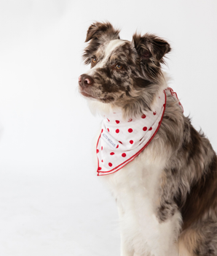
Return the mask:
[[163, 62], [163, 56], [171, 50], [170, 45], [164, 39], [154, 34], [145, 34], [143, 37], [134, 34], [133, 43], [143, 61], [149, 61], [152, 58], [154, 61]]

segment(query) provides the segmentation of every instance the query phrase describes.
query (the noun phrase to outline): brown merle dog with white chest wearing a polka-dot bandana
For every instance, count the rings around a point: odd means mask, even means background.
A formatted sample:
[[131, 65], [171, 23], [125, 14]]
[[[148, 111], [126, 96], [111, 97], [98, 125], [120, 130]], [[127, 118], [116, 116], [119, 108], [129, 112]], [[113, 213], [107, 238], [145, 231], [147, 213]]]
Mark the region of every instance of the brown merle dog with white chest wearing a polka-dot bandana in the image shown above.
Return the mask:
[[79, 91], [103, 116], [98, 176], [117, 200], [122, 256], [217, 255], [217, 159], [162, 72], [171, 48], [154, 34], [87, 30]]

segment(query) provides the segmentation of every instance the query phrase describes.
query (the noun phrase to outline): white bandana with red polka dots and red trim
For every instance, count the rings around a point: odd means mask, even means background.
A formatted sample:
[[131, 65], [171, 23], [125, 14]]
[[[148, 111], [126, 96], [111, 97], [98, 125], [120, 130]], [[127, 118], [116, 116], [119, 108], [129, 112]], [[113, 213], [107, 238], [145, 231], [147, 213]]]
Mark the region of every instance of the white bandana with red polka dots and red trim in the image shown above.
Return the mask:
[[[178, 99], [173, 89], [166, 90]], [[122, 118], [122, 110], [106, 114], [96, 147], [98, 176], [117, 172], [149, 145], [162, 122], [166, 99], [164, 90], [157, 95], [152, 111], [128, 120]]]

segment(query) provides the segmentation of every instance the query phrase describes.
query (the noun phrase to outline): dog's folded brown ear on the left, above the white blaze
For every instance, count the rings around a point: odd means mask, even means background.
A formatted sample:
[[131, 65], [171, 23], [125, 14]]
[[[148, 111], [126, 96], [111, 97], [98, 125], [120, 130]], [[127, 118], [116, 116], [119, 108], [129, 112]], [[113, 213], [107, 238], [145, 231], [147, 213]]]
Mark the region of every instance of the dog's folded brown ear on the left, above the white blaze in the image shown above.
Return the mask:
[[119, 39], [119, 30], [114, 29], [111, 23], [93, 23], [87, 30], [87, 37], [85, 42], [90, 41], [90, 39], [99, 39], [100, 37], [108, 39]]

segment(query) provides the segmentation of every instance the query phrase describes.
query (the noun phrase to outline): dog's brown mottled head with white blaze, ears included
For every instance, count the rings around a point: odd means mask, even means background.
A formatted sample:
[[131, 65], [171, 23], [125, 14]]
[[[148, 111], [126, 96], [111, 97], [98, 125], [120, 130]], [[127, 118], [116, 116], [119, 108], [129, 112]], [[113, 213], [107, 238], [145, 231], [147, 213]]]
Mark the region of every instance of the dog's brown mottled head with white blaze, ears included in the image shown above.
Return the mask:
[[111, 23], [93, 23], [87, 31], [85, 64], [79, 77], [84, 97], [110, 104], [125, 114], [150, 110], [162, 83], [161, 64], [170, 45], [153, 34], [134, 34], [132, 42], [119, 38]]

